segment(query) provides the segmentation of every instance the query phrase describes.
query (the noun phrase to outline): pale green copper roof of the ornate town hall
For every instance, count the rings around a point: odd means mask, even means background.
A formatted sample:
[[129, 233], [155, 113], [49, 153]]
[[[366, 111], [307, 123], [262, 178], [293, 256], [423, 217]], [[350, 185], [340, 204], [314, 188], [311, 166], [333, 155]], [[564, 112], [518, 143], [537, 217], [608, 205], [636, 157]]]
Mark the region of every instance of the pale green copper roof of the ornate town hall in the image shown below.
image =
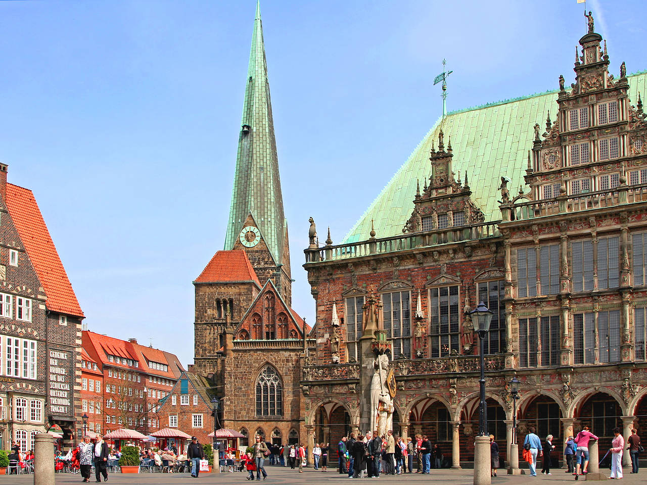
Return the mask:
[[[628, 76], [628, 81], [631, 103], [635, 105], [638, 92], [646, 94], [647, 71]], [[534, 138], [532, 127], [538, 123], [543, 131], [548, 111], [555, 120], [556, 100], [557, 91], [534, 94], [453, 111], [442, 122], [444, 139], [452, 138], [452, 169], [461, 180], [465, 180], [467, 173], [472, 198], [487, 221], [501, 219], [497, 202], [501, 177], [512, 181], [509, 184], [512, 197], [524, 184], [528, 150], [532, 149]], [[431, 175], [429, 154], [432, 142], [438, 144], [440, 129], [441, 120], [438, 120], [345, 236], [344, 243], [369, 239], [371, 219], [375, 221], [378, 238], [402, 234], [402, 227], [413, 211], [416, 181], [419, 179], [422, 186], [424, 178]]]

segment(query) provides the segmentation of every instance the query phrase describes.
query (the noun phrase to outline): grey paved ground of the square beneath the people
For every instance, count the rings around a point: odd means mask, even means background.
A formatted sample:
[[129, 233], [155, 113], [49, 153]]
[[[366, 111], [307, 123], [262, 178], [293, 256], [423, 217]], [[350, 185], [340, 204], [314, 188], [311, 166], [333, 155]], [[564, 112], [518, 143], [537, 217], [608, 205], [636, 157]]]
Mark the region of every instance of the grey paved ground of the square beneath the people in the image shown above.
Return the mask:
[[[411, 475], [382, 475], [378, 479], [358, 479], [349, 480], [347, 475], [340, 475], [336, 469], [330, 469], [327, 473], [316, 471], [311, 468], [305, 468], [303, 473], [299, 473], [298, 469], [283, 468], [280, 466], [267, 466], [268, 477], [263, 483], [265, 484], [294, 484], [294, 485], [318, 485], [318, 484], [331, 484], [338, 485], [344, 482], [349, 484], [355, 481], [360, 482], [378, 482], [388, 485], [402, 485], [406, 484], [424, 484], [433, 483], [437, 484], [442, 482], [443, 485], [471, 485], [472, 469], [432, 469], [430, 475], [421, 475], [419, 473], [412, 473]], [[639, 482], [644, 482], [647, 478], [647, 470], [642, 471], [638, 475], [630, 474], [631, 468], [625, 468], [624, 479], [622, 483], [625, 485], [634, 485]], [[527, 469], [526, 469], [527, 473]], [[603, 469], [602, 473], [609, 475], [608, 469]], [[81, 475], [72, 475], [70, 473], [56, 473], [56, 485], [64, 484], [79, 484], [81, 483]], [[575, 477], [569, 473], [564, 473], [564, 469], [558, 468], [553, 470], [553, 475], [538, 475], [538, 477], [530, 477], [530, 475], [516, 475], [510, 476], [505, 473], [498, 473], [498, 477], [492, 478], [492, 485], [528, 485], [529, 481], [542, 482], [546, 485], [555, 485], [555, 482], [575, 482]], [[606, 481], [606, 480], [604, 480]], [[108, 477], [109, 484], [118, 485], [174, 485], [174, 484], [215, 484], [215, 485], [228, 485], [228, 484], [243, 484], [247, 483], [247, 473], [201, 473], [197, 479], [191, 477], [188, 473], [140, 473], [138, 475], [128, 475], [121, 473], [110, 473]], [[582, 482], [582, 477], [577, 483]], [[0, 485], [16, 484], [27, 485], [34, 483], [33, 475], [10, 475], [0, 477]], [[94, 476], [91, 478], [91, 483], [94, 482]], [[614, 482], [615, 483], [615, 482]]]

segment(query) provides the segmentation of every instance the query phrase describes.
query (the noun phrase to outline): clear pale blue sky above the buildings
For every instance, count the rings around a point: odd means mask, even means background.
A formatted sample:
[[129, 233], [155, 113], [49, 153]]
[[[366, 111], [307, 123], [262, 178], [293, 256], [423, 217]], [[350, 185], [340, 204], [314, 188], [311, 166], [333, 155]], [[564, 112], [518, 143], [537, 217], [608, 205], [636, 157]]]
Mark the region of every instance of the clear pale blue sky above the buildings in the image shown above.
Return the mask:
[[[30, 188], [91, 330], [193, 361], [192, 281], [223, 249], [255, 0], [0, 2], [0, 160]], [[644, 3], [589, 0], [611, 71]], [[308, 218], [340, 242], [448, 109], [573, 81], [576, 0], [261, 2], [293, 306]], [[541, 120], [540, 120], [541, 122]]]

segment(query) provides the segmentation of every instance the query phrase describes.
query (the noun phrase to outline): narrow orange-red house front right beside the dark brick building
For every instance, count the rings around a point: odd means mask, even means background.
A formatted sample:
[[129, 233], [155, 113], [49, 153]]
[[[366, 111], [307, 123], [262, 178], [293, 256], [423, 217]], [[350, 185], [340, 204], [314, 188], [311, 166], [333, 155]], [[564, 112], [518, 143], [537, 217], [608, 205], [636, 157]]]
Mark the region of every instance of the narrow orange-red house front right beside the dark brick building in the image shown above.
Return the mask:
[[104, 429], [104, 374], [96, 360], [81, 350], [81, 411], [83, 428], [101, 433]]

